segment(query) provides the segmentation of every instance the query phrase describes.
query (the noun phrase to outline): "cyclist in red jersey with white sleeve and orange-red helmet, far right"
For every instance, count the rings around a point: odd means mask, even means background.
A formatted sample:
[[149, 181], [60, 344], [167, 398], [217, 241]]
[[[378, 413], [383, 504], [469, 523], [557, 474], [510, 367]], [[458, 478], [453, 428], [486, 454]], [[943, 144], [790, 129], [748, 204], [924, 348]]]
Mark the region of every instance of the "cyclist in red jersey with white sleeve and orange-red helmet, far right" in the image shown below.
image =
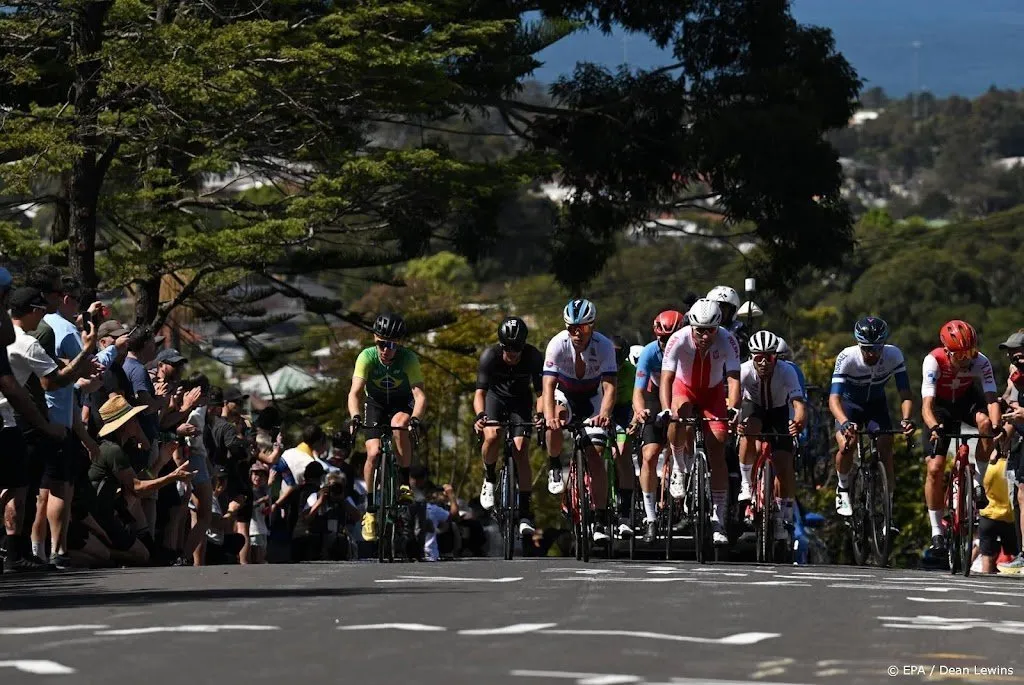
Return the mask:
[[[959, 319], [947, 322], [939, 330], [939, 338], [942, 347], [936, 347], [925, 357], [921, 384], [921, 414], [932, 434], [925, 448], [928, 460], [925, 503], [932, 525], [931, 551], [935, 554], [945, 550], [942, 534], [943, 474], [949, 438], [943, 436], [943, 431], [955, 432], [961, 423], [966, 423], [977, 428], [979, 433], [991, 435], [992, 427], [999, 426], [1002, 417], [995, 374], [988, 357], [978, 351], [978, 334], [974, 328]], [[974, 489], [979, 500], [984, 498], [981, 484], [983, 465], [987, 465], [987, 456], [991, 452], [991, 438], [978, 440]], [[985, 458], [978, 459], [977, 455]]]

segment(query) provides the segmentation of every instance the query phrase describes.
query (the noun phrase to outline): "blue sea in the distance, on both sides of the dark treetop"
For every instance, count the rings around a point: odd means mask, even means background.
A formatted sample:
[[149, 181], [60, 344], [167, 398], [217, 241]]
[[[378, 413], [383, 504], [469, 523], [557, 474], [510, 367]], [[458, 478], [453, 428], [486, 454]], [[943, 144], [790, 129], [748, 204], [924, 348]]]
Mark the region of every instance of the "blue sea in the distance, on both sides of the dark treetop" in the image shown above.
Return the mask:
[[[865, 88], [944, 97], [1024, 87], [1024, 0], [794, 0], [793, 13], [833, 30]], [[540, 56], [545, 65], [535, 76], [544, 83], [570, 73], [577, 61], [650, 68], [672, 58], [623, 32], [577, 34]]]

